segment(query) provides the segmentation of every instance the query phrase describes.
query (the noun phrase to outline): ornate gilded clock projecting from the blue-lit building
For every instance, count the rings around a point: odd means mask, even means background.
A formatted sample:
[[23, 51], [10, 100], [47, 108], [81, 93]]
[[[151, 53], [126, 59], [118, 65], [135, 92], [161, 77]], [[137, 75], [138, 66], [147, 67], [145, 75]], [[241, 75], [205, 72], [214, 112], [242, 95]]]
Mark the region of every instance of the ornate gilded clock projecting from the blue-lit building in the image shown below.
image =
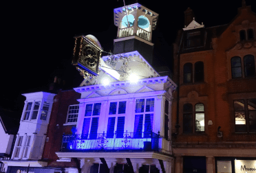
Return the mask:
[[92, 35], [76, 37], [72, 63], [84, 78], [98, 76], [102, 48]]

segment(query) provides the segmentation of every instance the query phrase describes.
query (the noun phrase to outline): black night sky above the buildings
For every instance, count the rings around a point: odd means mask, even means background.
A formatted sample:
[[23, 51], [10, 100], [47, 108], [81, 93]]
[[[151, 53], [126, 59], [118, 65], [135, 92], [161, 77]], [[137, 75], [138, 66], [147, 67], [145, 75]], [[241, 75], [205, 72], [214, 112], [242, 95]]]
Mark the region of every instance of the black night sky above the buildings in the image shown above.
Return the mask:
[[[154, 3], [149, 3], [154, 2]], [[169, 2], [169, 3], [167, 3]], [[125, 0], [126, 5], [136, 1]], [[198, 23], [205, 27], [229, 23], [242, 6], [242, 0], [180, 0], [138, 3], [159, 14], [152, 33], [158, 64], [172, 67], [171, 45], [178, 30], [184, 27], [184, 11], [190, 7]], [[256, 12], [256, 1], [246, 0]], [[22, 93], [48, 88], [54, 76], [65, 80], [70, 89], [78, 87], [83, 77], [71, 65], [74, 36], [92, 34], [104, 51], [113, 49], [117, 27], [114, 8], [122, 0], [108, 1], [10, 1], [1, 4], [1, 97], [0, 108], [19, 112], [25, 97]], [[106, 54], [103, 54], [105, 56]]]

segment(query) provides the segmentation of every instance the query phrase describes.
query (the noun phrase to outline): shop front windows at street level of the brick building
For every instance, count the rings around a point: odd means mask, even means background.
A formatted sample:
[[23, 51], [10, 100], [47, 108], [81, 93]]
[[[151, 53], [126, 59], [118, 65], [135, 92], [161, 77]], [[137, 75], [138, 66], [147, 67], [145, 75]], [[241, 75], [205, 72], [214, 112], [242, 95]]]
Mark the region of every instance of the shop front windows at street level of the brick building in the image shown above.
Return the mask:
[[256, 173], [256, 158], [216, 157], [217, 173]]

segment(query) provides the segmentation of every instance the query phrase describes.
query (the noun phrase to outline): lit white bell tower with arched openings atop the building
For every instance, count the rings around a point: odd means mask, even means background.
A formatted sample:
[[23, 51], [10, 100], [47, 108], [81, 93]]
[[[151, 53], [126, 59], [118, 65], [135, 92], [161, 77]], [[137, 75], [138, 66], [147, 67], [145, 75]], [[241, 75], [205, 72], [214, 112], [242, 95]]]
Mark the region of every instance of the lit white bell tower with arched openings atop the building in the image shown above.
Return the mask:
[[134, 3], [114, 9], [114, 24], [118, 27], [114, 39], [114, 54], [138, 51], [152, 65], [152, 30], [156, 29], [158, 14]]

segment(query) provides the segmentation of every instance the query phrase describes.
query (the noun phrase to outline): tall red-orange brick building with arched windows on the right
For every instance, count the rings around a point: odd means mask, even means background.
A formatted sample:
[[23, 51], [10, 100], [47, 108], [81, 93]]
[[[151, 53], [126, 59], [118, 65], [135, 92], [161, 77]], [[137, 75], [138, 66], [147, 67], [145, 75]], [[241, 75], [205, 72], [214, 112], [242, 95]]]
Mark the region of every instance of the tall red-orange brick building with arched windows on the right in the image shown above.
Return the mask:
[[226, 25], [184, 14], [173, 44], [175, 172], [255, 171], [256, 14], [245, 1]]

